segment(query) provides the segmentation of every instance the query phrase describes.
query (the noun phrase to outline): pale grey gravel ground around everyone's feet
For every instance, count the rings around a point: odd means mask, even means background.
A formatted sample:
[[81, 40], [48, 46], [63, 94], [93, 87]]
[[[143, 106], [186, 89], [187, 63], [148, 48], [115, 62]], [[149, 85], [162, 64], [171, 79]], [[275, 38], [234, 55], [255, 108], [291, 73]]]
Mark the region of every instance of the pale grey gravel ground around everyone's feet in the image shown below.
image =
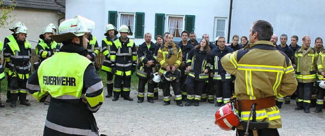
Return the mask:
[[[224, 131], [214, 124], [217, 107], [207, 102], [199, 107], [178, 107], [176, 102], [163, 106], [162, 92], [154, 104], [137, 103], [136, 90], [132, 90], [133, 102], [105, 98], [101, 109], [94, 114], [100, 133], [107, 135], [235, 135], [235, 131]], [[2, 102], [6, 100], [2, 94]], [[31, 106], [19, 105], [11, 108], [6, 103], [0, 108], [0, 135], [42, 135], [48, 106], [27, 96]], [[172, 98], [173, 100], [173, 98]], [[295, 111], [291, 101], [283, 105], [280, 135], [325, 135], [325, 114]]]

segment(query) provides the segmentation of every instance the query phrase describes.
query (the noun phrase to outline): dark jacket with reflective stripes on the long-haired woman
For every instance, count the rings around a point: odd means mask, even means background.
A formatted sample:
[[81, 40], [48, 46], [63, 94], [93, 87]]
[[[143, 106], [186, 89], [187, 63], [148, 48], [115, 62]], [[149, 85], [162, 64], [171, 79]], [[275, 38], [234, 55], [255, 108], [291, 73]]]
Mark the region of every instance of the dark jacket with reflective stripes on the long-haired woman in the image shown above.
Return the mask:
[[209, 72], [204, 73], [206, 69], [210, 70], [210, 56], [206, 51], [200, 51], [200, 48], [192, 49], [186, 58], [186, 67], [191, 66], [188, 78], [206, 81], [209, 78]]

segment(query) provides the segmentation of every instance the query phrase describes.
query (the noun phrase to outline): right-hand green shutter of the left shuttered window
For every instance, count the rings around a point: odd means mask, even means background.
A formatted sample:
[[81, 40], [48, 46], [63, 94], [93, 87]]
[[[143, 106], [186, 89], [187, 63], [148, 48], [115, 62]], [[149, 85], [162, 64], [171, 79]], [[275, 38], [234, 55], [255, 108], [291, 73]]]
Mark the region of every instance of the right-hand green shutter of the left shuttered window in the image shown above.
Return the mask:
[[144, 34], [144, 13], [136, 12], [135, 38], [143, 38]]

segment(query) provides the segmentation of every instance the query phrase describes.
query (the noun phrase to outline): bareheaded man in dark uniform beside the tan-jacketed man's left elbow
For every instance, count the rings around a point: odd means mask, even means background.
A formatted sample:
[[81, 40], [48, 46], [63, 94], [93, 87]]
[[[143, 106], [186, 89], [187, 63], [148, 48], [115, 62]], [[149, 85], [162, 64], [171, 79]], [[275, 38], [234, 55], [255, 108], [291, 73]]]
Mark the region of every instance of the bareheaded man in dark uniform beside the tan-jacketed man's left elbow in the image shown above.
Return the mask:
[[219, 36], [218, 47], [211, 52], [211, 56], [213, 57], [213, 60], [211, 61], [213, 70], [210, 72], [210, 76], [213, 77], [217, 97], [217, 103], [215, 106], [218, 107], [222, 104], [228, 103], [231, 97], [230, 82], [232, 77], [225, 71], [220, 60], [223, 56], [232, 52], [234, 52], [233, 49], [225, 46], [225, 38]]

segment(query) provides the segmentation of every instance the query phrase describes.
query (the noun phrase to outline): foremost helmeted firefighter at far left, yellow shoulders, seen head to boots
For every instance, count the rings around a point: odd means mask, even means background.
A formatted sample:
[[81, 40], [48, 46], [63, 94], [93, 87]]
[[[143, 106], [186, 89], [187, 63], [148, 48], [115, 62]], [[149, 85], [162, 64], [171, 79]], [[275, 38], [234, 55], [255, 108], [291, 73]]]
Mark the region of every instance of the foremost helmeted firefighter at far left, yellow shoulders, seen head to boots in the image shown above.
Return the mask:
[[30, 72], [31, 57], [31, 44], [26, 40], [27, 27], [20, 26], [17, 29], [17, 38], [15, 41], [8, 42], [4, 48], [4, 57], [10, 65], [8, 75], [10, 78], [14, 78], [10, 83], [10, 107], [16, 107], [16, 101], [18, 99], [21, 105], [30, 106], [26, 101], [27, 89], [26, 82]]

